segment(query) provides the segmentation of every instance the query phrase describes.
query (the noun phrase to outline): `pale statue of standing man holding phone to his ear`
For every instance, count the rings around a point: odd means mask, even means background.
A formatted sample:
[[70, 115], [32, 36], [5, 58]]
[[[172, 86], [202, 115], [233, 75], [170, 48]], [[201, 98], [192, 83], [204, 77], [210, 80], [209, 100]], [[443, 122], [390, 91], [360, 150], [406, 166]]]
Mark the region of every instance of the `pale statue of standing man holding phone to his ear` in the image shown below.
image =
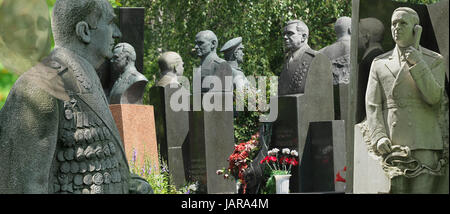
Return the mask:
[[445, 60], [419, 45], [422, 29], [415, 10], [393, 11], [395, 47], [372, 62], [367, 121], [358, 125], [389, 178], [390, 193], [448, 194]]

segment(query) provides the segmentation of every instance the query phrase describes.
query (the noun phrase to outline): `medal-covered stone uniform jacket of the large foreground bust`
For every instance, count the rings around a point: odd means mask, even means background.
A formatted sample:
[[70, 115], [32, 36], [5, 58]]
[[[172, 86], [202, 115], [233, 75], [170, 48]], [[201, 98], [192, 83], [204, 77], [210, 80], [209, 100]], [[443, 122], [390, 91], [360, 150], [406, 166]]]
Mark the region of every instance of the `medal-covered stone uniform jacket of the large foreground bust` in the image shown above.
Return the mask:
[[94, 68], [56, 48], [0, 112], [0, 193], [128, 193], [124, 148]]

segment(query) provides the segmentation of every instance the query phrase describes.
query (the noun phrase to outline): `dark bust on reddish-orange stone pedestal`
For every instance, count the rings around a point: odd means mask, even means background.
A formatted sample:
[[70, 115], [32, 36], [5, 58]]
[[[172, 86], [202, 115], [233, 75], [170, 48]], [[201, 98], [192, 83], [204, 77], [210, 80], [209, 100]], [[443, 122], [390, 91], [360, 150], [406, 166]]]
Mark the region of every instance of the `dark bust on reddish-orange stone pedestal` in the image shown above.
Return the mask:
[[142, 105], [148, 80], [137, 71], [135, 61], [133, 46], [119, 43], [114, 47], [111, 72], [120, 76], [109, 93], [110, 110], [128, 159], [135, 159], [137, 167], [150, 159], [152, 167], [159, 169], [153, 106]]

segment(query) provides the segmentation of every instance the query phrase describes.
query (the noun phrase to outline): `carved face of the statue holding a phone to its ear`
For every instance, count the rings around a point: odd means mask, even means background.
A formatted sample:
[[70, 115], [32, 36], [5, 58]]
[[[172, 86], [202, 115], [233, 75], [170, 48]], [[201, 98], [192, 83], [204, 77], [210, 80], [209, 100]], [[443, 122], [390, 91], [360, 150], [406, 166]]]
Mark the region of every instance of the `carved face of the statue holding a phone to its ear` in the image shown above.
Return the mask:
[[414, 44], [413, 16], [405, 11], [397, 11], [391, 19], [392, 38], [400, 47]]

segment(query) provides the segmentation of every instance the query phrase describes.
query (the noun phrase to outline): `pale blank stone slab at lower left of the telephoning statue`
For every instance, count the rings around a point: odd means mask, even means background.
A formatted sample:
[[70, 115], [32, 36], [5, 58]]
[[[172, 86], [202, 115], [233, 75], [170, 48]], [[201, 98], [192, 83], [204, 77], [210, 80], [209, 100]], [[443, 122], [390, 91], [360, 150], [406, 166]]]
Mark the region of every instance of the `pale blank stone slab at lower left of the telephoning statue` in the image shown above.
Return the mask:
[[359, 124], [355, 126], [353, 193], [389, 193], [391, 179], [381, 167], [379, 157], [369, 153]]

